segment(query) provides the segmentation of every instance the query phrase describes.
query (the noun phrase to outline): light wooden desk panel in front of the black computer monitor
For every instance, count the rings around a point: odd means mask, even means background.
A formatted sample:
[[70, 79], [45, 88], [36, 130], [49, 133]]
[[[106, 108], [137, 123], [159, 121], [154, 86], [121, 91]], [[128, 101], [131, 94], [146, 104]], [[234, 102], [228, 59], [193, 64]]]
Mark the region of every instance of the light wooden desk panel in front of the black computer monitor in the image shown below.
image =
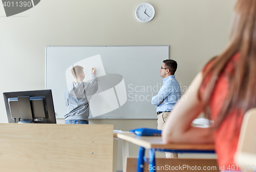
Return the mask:
[[112, 171], [113, 125], [0, 124], [1, 171]]

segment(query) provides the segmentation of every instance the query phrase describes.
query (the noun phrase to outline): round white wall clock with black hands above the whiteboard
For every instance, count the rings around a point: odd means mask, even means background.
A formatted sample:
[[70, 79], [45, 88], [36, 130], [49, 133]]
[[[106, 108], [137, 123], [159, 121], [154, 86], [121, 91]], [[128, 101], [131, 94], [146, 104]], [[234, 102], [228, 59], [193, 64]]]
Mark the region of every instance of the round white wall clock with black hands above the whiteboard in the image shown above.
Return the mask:
[[150, 22], [155, 16], [155, 8], [148, 3], [143, 3], [135, 10], [135, 17], [139, 22], [145, 23]]

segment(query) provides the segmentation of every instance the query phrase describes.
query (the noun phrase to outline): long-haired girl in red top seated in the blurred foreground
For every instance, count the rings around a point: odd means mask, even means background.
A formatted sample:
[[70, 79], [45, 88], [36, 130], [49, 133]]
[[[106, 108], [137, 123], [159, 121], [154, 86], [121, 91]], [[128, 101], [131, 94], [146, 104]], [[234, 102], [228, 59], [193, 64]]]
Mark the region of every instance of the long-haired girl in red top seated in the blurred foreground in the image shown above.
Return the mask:
[[[256, 107], [256, 0], [239, 0], [234, 8], [230, 41], [211, 59], [177, 102], [162, 132], [164, 142], [215, 143], [218, 164], [234, 162], [245, 112]], [[215, 123], [191, 126], [204, 112]], [[254, 164], [250, 164], [254, 165]]]

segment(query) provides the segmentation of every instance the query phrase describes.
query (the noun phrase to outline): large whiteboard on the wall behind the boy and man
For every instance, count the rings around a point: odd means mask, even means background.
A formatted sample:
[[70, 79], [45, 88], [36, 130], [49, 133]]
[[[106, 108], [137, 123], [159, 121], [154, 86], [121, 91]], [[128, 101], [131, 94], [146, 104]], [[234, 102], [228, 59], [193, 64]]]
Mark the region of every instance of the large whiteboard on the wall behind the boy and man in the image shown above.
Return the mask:
[[151, 103], [162, 85], [160, 67], [169, 46], [46, 47], [46, 89], [51, 89], [56, 118], [67, 107], [64, 93], [75, 81], [70, 70], [82, 66], [90, 82], [96, 68], [98, 91], [90, 99], [89, 119], [157, 119]]

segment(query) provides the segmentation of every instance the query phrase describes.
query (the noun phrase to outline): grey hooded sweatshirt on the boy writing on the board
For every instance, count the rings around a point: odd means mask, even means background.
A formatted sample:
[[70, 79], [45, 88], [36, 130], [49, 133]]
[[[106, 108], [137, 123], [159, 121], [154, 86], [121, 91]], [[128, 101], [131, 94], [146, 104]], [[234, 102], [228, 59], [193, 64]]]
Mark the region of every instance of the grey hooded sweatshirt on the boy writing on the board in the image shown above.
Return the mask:
[[65, 92], [65, 104], [67, 106], [65, 120], [83, 119], [88, 120], [90, 115], [89, 101], [98, 90], [98, 80], [92, 73], [91, 82], [73, 82]]

